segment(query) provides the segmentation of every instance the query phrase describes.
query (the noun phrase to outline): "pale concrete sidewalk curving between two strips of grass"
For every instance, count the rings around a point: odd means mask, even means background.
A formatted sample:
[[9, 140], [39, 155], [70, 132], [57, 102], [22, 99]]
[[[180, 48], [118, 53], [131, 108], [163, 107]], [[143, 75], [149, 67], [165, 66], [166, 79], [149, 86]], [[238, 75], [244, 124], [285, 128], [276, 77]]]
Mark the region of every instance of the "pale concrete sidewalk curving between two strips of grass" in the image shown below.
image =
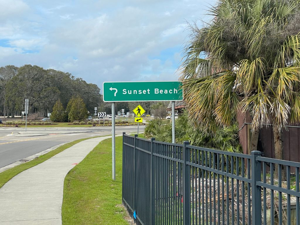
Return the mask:
[[65, 176], [107, 138], [111, 136], [79, 142], [4, 184], [0, 188], [0, 225], [61, 225]]

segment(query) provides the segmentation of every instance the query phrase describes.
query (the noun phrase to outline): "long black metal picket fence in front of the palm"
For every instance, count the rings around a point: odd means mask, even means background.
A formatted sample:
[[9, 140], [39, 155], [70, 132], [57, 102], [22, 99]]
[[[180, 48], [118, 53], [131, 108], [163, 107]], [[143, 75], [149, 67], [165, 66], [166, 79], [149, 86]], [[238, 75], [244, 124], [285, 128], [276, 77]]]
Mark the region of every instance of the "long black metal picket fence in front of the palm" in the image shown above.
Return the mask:
[[123, 133], [122, 202], [143, 225], [300, 225], [299, 168], [258, 151], [244, 155]]

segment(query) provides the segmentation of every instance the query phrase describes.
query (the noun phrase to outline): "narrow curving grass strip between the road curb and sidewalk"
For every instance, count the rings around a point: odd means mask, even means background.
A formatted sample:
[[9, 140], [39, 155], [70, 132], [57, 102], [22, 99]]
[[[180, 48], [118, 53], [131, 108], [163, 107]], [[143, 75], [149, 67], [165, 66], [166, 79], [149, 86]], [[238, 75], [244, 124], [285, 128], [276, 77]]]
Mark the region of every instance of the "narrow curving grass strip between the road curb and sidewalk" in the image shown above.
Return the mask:
[[[103, 137], [103, 136], [97, 136], [97, 137]], [[23, 163], [21, 165], [18, 165], [16, 167], [10, 168], [8, 170], [5, 170], [3, 172], [0, 173], [0, 188], [10, 179], [12, 179], [14, 176], [16, 176], [17, 174], [23, 172], [24, 170], [27, 170], [31, 167], [34, 167], [44, 161], [46, 161], [47, 159], [51, 158], [52, 156], [64, 151], [67, 148], [70, 148], [71, 146], [87, 140], [87, 139], [91, 139], [91, 138], [96, 138], [96, 137], [88, 137], [88, 138], [83, 138], [83, 139], [79, 139], [79, 140], [75, 140], [72, 141], [70, 143], [64, 144], [60, 147], [58, 147], [57, 149], [52, 150], [51, 152], [46, 153], [45, 155], [41, 155], [36, 159], [33, 159], [29, 162]]]

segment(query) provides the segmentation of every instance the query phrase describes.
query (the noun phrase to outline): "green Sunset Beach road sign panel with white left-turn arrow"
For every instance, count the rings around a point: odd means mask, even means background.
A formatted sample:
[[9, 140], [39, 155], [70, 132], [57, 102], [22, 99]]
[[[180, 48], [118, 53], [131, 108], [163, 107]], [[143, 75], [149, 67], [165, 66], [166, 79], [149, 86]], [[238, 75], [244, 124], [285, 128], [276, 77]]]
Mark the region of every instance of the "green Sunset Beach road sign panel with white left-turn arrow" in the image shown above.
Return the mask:
[[104, 82], [103, 101], [182, 101], [181, 81]]

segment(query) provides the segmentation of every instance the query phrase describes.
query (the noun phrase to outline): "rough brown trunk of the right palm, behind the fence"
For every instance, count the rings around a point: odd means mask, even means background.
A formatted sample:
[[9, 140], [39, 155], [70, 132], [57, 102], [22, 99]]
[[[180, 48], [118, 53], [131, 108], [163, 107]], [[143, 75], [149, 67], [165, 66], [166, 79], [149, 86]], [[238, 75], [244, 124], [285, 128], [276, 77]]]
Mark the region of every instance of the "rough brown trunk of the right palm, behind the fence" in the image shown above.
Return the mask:
[[[278, 126], [273, 124], [273, 136], [274, 136], [274, 151], [275, 159], [283, 160], [283, 140], [282, 140], [282, 131], [278, 130]], [[278, 166], [274, 165], [275, 173], [274, 178], [278, 179]], [[286, 180], [286, 167], [281, 167], [281, 178], [283, 181]]]

